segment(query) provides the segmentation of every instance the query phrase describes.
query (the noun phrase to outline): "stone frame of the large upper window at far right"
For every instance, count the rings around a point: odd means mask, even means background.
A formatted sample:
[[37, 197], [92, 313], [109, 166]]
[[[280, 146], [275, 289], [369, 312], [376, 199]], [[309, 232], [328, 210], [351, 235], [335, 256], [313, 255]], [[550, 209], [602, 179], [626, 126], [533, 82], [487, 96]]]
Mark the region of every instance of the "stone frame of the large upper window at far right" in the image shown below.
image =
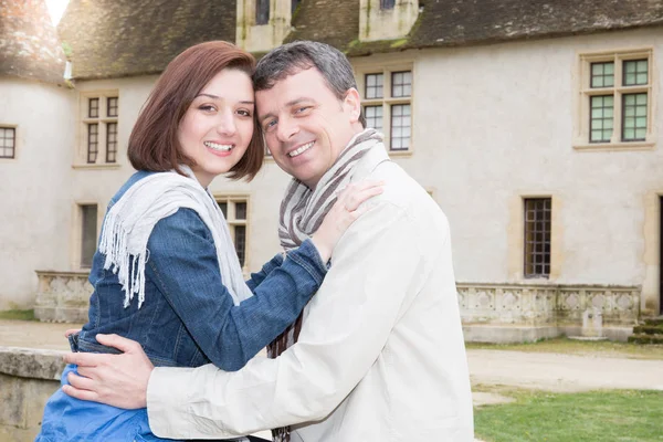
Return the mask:
[[[624, 63], [629, 61], [648, 61], [648, 83], [624, 86]], [[612, 86], [592, 87], [592, 64], [613, 63]], [[593, 53], [581, 53], [578, 55], [578, 81], [577, 81], [577, 118], [573, 137], [575, 149], [590, 150], [633, 150], [651, 149], [656, 140], [656, 127], [654, 120], [654, 102], [656, 85], [654, 80], [653, 49], [629, 49]], [[630, 94], [648, 95], [646, 103], [646, 135], [641, 139], [624, 140], [624, 96]], [[592, 108], [591, 101], [594, 96], [612, 96], [612, 134], [609, 140], [591, 140]]]

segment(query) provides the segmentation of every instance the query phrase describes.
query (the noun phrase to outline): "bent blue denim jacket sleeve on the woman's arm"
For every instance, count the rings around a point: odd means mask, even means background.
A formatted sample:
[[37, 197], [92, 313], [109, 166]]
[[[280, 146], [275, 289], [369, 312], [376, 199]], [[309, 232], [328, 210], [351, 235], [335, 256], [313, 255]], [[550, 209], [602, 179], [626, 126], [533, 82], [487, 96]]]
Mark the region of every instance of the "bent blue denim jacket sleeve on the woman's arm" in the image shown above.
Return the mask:
[[160, 220], [148, 241], [146, 277], [164, 294], [215, 366], [239, 370], [292, 324], [326, 273], [317, 249], [305, 241], [239, 306], [233, 304], [210, 231], [198, 214], [180, 209]]

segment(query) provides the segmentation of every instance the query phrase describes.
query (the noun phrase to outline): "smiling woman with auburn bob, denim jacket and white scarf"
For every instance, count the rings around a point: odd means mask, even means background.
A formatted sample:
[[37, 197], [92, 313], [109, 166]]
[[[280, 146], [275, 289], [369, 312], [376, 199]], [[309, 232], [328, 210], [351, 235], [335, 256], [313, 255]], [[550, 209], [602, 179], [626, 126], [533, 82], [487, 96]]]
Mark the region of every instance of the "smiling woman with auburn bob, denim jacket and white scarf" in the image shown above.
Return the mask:
[[[221, 173], [251, 179], [262, 165], [253, 67], [251, 54], [208, 42], [178, 55], [158, 80], [129, 139], [138, 172], [104, 219], [90, 273], [90, 320], [70, 336], [74, 351], [116, 352], [95, 339], [115, 333], [139, 341], [155, 366], [240, 369], [296, 319], [359, 203], [381, 192], [365, 183], [341, 193], [312, 239], [244, 283], [223, 214], [206, 189]], [[63, 385], [75, 370], [65, 368]], [[145, 409], [78, 401], [60, 389], [36, 440], [159, 439]]]

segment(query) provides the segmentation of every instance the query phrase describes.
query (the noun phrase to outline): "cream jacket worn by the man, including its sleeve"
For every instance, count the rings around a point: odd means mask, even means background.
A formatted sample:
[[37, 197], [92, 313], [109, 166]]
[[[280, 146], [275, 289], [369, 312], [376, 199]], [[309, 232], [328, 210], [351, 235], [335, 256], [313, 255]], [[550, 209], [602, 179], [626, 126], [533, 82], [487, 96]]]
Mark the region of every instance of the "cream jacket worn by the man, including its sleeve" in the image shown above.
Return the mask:
[[[367, 164], [376, 164], [372, 170]], [[379, 162], [379, 161], [378, 161]], [[223, 439], [293, 425], [293, 442], [473, 441], [472, 397], [446, 218], [372, 149], [355, 177], [385, 193], [341, 238], [298, 343], [236, 372], [156, 368], [151, 430]]]

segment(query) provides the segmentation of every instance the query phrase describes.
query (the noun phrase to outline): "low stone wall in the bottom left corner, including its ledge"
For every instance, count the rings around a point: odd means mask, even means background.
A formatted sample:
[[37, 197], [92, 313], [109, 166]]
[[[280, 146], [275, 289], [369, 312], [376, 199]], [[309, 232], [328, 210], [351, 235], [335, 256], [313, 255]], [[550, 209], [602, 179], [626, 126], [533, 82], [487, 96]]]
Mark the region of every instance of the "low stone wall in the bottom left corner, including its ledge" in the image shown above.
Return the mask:
[[0, 441], [33, 441], [60, 387], [64, 351], [0, 347]]

